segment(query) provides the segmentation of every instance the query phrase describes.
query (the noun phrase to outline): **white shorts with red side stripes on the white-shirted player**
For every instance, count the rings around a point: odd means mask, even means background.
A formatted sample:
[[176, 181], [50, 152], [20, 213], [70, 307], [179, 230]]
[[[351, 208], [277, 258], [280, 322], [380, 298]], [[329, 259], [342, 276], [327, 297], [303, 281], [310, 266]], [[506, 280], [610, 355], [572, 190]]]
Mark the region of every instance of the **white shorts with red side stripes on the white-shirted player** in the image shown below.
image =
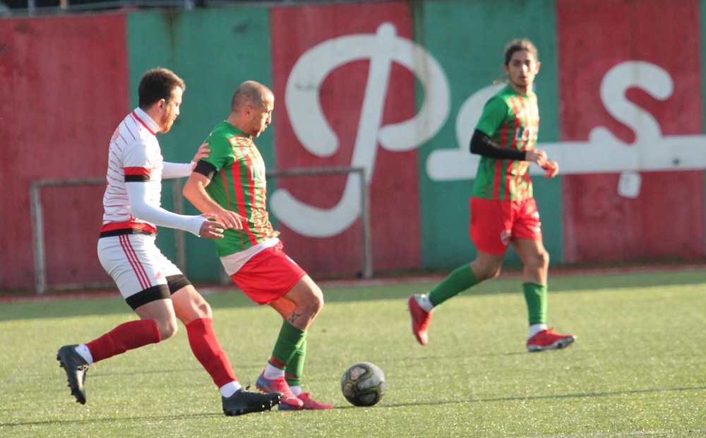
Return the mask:
[[154, 235], [126, 234], [98, 239], [98, 259], [126, 300], [143, 290], [167, 285], [181, 271], [155, 245]]

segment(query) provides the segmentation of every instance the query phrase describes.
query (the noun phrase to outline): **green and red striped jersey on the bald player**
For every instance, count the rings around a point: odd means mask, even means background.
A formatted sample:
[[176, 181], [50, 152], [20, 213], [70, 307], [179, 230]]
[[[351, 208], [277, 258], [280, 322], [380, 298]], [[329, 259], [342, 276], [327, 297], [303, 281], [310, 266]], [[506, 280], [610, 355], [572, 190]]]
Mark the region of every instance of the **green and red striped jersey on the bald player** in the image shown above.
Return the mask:
[[228, 122], [217, 124], [206, 139], [208, 158], [217, 170], [208, 194], [223, 208], [248, 218], [244, 230], [225, 230], [222, 239], [213, 239], [218, 256], [234, 254], [267, 239], [277, 237], [265, 210], [267, 182], [265, 162], [253, 139]]

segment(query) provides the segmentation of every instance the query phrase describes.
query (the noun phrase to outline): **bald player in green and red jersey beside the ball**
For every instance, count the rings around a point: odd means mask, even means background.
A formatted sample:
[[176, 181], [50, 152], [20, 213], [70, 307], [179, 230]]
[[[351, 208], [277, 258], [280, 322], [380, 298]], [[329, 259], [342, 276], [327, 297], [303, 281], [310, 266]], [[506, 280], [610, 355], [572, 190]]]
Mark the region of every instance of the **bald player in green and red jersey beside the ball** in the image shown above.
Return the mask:
[[211, 149], [184, 184], [198, 210], [226, 225], [215, 240], [225, 272], [251, 300], [269, 304], [284, 321], [268, 365], [257, 380], [263, 392], [284, 393], [280, 410], [330, 409], [303, 392], [306, 331], [323, 307], [316, 283], [282, 251], [265, 210], [265, 162], [253, 143], [272, 121], [275, 97], [255, 81], [235, 90], [228, 119], [206, 139]]

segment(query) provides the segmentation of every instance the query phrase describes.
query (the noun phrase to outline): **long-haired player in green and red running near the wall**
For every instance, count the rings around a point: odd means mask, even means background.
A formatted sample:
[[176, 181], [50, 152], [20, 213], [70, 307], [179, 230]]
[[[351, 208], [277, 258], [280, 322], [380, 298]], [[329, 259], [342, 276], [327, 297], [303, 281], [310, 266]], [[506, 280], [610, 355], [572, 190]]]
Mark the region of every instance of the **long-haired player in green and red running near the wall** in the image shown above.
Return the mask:
[[546, 278], [549, 254], [542, 244], [537, 204], [527, 173], [536, 162], [553, 178], [559, 167], [534, 149], [539, 127], [537, 95], [532, 91], [539, 72], [537, 48], [529, 40], [513, 40], [505, 47], [503, 71], [509, 83], [486, 102], [471, 139], [471, 153], [481, 155], [470, 201], [470, 235], [478, 255], [460, 266], [436, 288], [407, 300], [412, 332], [421, 345], [429, 341], [431, 312], [468, 288], [500, 275], [508, 244], [522, 261], [522, 291], [530, 316], [527, 350], [565, 348], [573, 335], [554, 333], [546, 326]]

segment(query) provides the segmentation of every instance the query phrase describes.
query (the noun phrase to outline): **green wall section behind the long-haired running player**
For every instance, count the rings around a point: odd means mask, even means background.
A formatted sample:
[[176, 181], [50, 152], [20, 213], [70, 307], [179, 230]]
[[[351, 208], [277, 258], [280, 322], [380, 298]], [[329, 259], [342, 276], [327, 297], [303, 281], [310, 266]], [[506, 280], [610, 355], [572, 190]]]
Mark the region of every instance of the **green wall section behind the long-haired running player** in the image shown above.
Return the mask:
[[[476, 255], [468, 235], [473, 182], [434, 181], [426, 172], [426, 160], [433, 150], [459, 147], [455, 124], [460, 107], [469, 96], [503, 74], [503, 47], [516, 37], [530, 38], [542, 61], [535, 82], [542, 118], [539, 143], [558, 140], [554, 1], [426, 1], [415, 5], [415, 39], [441, 64], [451, 100], [445, 126], [419, 148], [422, 264], [429, 269], [448, 270]], [[542, 215], [544, 243], [552, 262], [560, 262], [561, 180], [544, 180], [541, 176], [532, 180]], [[508, 251], [506, 259], [508, 264], [519, 264], [513, 251]]]

